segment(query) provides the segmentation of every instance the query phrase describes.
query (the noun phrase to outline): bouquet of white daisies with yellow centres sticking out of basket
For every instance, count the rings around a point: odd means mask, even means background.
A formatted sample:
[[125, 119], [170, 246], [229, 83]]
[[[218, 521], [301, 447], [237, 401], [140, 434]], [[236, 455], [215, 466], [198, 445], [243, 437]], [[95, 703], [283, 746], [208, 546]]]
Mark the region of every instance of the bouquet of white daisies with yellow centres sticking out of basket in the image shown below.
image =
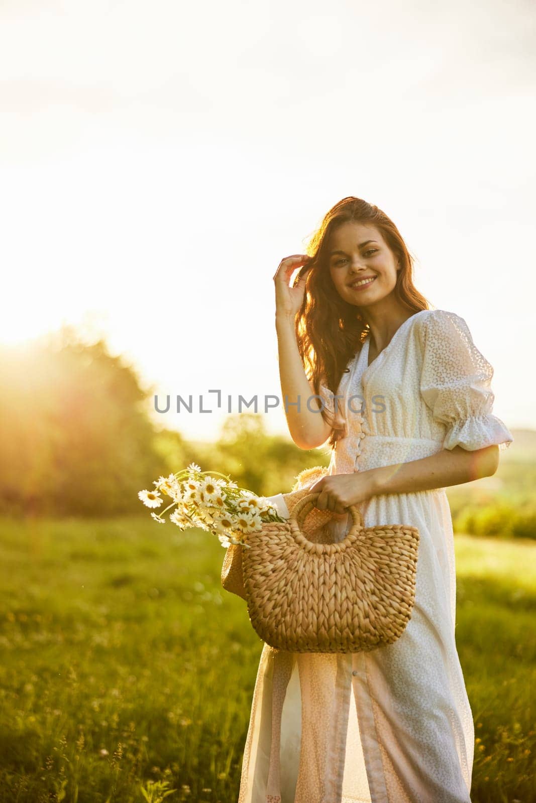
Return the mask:
[[201, 471], [195, 463], [177, 474], [153, 481], [154, 491], [139, 491], [138, 497], [147, 507], [160, 507], [162, 494], [173, 501], [160, 515], [151, 513], [159, 524], [165, 524], [163, 514], [174, 507], [170, 521], [181, 530], [199, 527], [214, 532], [220, 544], [246, 543], [248, 532], [258, 532], [266, 521], [285, 521], [265, 496], [239, 488], [230, 477], [219, 471]]

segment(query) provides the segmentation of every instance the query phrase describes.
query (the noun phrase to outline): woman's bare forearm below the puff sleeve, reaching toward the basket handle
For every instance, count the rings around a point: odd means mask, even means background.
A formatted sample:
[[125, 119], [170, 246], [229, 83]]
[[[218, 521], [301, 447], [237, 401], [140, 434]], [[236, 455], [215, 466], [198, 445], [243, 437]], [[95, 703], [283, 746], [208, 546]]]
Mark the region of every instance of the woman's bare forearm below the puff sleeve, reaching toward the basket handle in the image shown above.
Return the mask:
[[499, 447], [495, 444], [473, 451], [455, 446], [420, 460], [373, 468], [364, 473], [370, 473], [373, 495], [403, 494], [472, 483], [474, 479], [495, 474], [498, 465]]

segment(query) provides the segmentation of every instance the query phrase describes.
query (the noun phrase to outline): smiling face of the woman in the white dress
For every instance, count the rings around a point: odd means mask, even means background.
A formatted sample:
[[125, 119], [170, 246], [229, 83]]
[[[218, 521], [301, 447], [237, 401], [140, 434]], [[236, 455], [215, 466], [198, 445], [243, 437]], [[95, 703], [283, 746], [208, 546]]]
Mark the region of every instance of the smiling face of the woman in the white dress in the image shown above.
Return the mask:
[[395, 289], [397, 263], [378, 229], [346, 222], [331, 234], [329, 273], [342, 299], [367, 307]]

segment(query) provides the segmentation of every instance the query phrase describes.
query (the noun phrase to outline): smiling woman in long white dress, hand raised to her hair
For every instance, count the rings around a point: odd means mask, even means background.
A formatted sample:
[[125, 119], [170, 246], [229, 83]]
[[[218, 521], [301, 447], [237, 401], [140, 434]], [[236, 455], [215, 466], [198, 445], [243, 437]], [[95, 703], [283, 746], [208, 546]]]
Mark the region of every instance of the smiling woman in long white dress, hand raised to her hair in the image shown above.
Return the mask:
[[493, 368], [464, 319], [415, 289], [407, 247], [376, 206], [344, 198], [308, 251], [274, 276], [288, 429], [302, 449], [329, 442], [328, 475], [310, 490], [333, 512], [333, 540], [352, 504], [366, 527], [419, 529], [415, 604], [400, 638], [370, 652], [264, 645], [239, 803], [467, 803], [473, 715], [445, 488], [493, 475], [513, 441], [492, 414]]

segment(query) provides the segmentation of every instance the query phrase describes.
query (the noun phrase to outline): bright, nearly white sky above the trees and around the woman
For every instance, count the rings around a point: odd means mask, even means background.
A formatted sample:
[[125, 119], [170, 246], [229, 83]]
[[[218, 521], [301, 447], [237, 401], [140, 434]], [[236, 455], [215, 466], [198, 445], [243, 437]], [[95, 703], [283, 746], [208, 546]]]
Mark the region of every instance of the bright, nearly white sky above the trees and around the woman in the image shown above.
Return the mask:
[[[535, 29], [524, 0], [4, 0], [0, 340], [82, 324], [162, 401], [280, 396], [272, 275], [355, 195], [536, 428]], [[211, 439], [226, 404], [155, 418]]]

